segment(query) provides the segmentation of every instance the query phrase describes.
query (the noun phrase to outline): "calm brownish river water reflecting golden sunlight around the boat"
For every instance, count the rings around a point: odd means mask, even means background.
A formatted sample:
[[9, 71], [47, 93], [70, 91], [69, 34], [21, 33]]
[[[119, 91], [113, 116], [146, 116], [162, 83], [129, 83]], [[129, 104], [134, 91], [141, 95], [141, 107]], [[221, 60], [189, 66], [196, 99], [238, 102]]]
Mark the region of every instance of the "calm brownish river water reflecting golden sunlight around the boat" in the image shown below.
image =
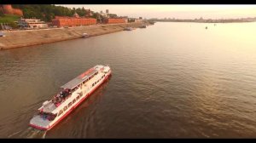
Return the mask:
[[[255, 137], [255, 31], [256, 23], [158, 22], [0, 51], [0, 137]], [[113, 76], [88, 100], [47, 132], [28, 126], [61, 85], [97, 64]]]

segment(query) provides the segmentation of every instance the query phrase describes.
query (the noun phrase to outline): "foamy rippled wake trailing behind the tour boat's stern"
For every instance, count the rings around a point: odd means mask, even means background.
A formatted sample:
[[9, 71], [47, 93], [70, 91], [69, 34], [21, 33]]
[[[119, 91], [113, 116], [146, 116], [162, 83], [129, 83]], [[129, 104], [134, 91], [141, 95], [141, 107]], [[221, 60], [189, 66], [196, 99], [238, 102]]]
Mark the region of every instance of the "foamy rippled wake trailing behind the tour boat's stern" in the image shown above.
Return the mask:
[[14, 134], [10, 134], [8, 138], [41, 138], [44, 139], [47, 131], [45, 130], [39, 130], [39, 129], [34, 129], [32, 127], [29, 127], [28, 129], [25, 130], [20, 130]]

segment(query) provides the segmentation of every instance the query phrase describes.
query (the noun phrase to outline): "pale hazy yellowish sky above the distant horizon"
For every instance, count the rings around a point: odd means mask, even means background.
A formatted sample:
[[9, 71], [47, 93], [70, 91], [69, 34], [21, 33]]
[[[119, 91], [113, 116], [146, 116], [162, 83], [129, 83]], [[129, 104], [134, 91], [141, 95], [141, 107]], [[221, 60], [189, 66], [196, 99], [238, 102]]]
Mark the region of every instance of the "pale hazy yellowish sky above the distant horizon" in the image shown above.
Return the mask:
[[118, 14], [119, 16], [129, 16], [138, 18], [241, 18], [256, 17], [256, 5], [176, 5], [176, 4], [62, 4], [68, 8], [91, 9], [92, 11]]

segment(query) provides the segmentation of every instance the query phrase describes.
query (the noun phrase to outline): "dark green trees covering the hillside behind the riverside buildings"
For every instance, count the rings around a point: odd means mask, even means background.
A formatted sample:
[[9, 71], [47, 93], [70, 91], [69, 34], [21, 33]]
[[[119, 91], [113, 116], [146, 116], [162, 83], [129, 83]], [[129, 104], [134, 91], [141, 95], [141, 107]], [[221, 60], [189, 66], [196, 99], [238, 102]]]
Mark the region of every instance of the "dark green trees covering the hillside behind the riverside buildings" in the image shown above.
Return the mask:
[[[24, 18], [37, 18], [44, 21], [51, 21], [55, 19], [55, 16], [73, 16], [75, 12], [79, 16], [84, 16], [88, 12], [84, 9], [70, 9], [62, 6], [55, 6], [54, 4], [12, 4], [15, 9], [21, 9], [23, 11]], [[92, 12], [92, 16], [97, 18], [97, 14]]]

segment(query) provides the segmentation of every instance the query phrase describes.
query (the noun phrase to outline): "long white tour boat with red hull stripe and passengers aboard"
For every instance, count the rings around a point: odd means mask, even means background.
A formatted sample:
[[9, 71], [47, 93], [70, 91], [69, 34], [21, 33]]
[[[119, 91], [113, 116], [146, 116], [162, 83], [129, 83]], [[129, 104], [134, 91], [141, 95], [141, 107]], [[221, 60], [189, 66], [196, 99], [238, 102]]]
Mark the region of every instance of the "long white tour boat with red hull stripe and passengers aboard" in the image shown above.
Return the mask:
[[109, 66], [94, 66], [87, 72], [75, 77], [61, 86], [61, 91], [52, 100], [46, 100], [38, 109], [38, 115], [30, 120], [29, 125], [36, 129], [49, 130], [73, 111], [95, 89], [111, 75]]

